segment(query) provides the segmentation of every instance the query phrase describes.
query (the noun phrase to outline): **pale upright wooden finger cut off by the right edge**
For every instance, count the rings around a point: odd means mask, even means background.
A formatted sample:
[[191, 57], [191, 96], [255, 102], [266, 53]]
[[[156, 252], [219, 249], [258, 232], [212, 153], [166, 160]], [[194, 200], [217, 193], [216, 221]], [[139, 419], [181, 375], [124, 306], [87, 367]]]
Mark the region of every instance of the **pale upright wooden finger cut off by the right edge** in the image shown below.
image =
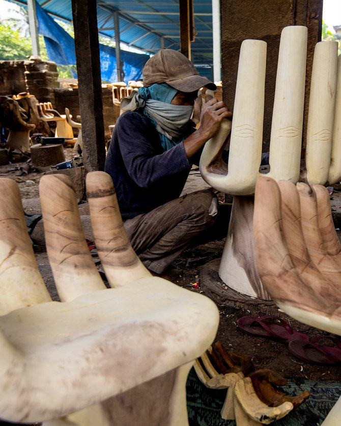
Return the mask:
[[335, 112], [333, 137], [331, 144], [331, 159], [328, 174], [329, 185], [341, 179], [341, 55], [337, 58], [337, 82], [335, 95]]

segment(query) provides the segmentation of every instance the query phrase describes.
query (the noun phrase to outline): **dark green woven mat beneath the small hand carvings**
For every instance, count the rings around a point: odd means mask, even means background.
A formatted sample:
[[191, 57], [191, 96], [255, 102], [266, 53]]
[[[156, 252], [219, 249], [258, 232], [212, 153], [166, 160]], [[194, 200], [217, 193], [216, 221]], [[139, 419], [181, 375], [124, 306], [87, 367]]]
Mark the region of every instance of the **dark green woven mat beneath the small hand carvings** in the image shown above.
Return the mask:
[[[296, 381], [297, 382], [297, 381]], [[341, 382], [314, 382], [299, 380], [299, 385], [288, 380], [282, 390], [289, 395], [297, 395], [308, 390], [311, 395], [297, 410], [277, 420], [278, 426], [316, 426], [320, 425], [341, 394]], [[187, 379], [187, 410], [190, 426], [234, 426], [234, 420], [223, 420], [220, 410], [224, 403], [226, 390], [208, 389], [197, 378], [192, 369]]]

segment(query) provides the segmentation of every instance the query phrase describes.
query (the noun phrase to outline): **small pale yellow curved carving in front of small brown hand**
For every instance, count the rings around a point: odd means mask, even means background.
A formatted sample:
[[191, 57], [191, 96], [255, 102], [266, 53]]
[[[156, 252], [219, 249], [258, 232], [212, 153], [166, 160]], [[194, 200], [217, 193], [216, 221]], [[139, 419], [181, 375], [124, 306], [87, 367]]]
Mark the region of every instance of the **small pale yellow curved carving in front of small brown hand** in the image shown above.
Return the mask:
[[258, 398], [249, 377], [238, 380], [235, 385], [235, 395], [245, 413], [263, 424], [270, 424], [286, 416], [294, 408], [291, 402], [283, 402], [278, 407], [268, 407]]

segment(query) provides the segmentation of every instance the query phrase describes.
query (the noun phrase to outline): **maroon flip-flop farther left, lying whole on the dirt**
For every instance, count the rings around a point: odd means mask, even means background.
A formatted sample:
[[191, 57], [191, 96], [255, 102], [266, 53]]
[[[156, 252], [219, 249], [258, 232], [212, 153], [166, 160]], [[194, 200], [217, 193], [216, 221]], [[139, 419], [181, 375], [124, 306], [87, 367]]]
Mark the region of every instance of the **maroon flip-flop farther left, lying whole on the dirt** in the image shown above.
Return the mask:
[[266, 337], [281, 343], [289, 343], [294, 340], [309, 342], [306, 334], [293, 331], [285, 320], [278, 317], [242, 317], [237, 324], [242, 331], [252, 336]]

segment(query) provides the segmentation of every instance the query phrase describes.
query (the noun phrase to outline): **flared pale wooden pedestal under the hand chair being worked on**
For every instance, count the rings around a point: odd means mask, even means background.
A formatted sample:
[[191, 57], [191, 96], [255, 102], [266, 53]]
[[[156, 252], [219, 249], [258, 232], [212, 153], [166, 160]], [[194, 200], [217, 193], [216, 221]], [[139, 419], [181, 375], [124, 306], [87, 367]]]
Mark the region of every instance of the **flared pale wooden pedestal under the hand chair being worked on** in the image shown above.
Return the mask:
[[229, 231], [219, 266], [219, 277], [242, 294], [270, 300], [253, 255], [253, 197], [235, 196]]

